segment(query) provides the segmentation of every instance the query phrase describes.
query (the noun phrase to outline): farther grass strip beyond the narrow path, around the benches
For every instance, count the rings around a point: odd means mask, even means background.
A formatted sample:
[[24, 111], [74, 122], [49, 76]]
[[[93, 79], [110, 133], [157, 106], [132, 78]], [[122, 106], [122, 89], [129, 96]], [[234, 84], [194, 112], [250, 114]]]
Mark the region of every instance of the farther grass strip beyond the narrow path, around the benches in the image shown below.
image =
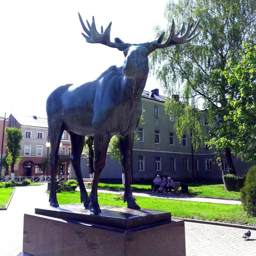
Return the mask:
[[[240, 192], [224, 191], [224, 185], [217, 184], [205, 184], [205, 183], [186, 183], [188, 184], [189, 196], [209, 196], [220, 198], [240, 199]], [[113, 189], [124, 190], [124, 186], [121, 181], [104, 181], [100, 182], [99, 189]], [[149, 183], [132, 183], [132, 191], [151, 191], [151, 184]]]

